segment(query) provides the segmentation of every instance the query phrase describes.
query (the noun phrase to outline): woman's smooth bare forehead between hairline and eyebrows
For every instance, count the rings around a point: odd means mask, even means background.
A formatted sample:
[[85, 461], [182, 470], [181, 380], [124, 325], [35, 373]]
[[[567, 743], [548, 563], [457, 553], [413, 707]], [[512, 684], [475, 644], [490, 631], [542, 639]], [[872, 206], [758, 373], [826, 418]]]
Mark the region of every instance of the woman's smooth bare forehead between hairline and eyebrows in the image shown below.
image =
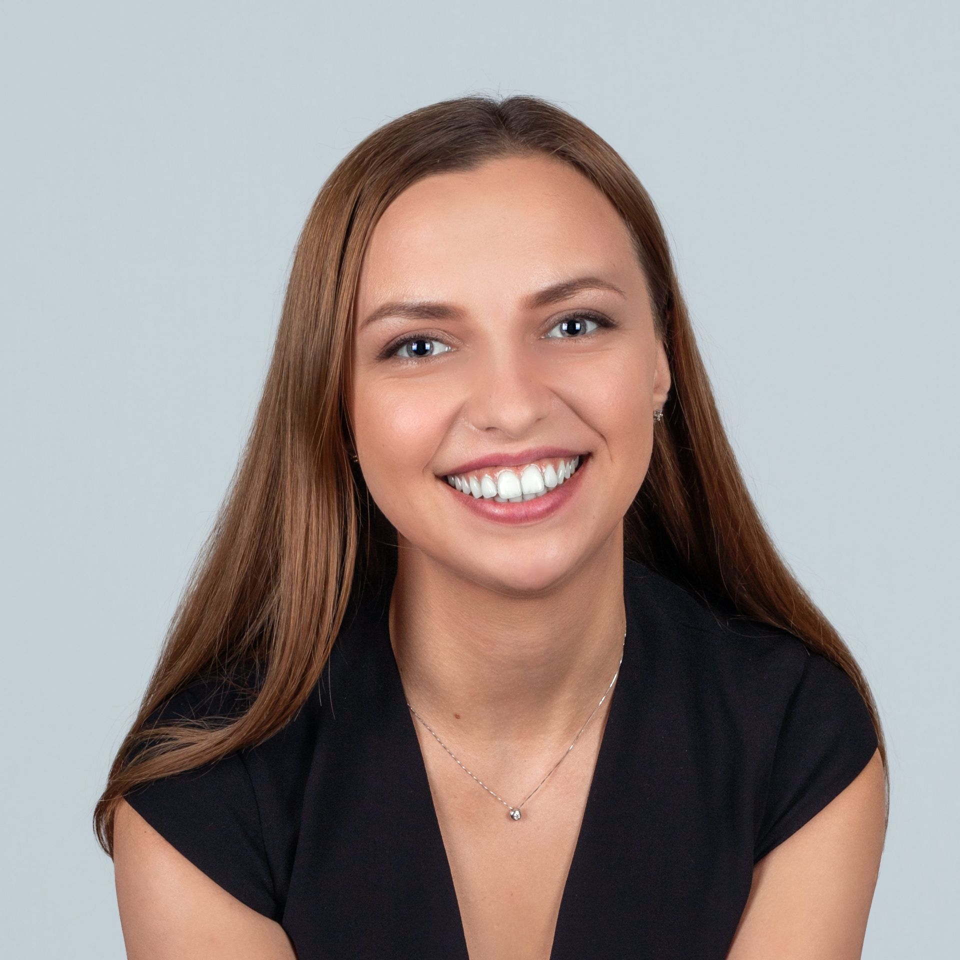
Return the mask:
[[401, 296], [519, 299], [585, 273], [642, 286], [610, 201], [563, 161], [495, 159], [419, 180], [387, 207], [364, 256], [357, 313]]

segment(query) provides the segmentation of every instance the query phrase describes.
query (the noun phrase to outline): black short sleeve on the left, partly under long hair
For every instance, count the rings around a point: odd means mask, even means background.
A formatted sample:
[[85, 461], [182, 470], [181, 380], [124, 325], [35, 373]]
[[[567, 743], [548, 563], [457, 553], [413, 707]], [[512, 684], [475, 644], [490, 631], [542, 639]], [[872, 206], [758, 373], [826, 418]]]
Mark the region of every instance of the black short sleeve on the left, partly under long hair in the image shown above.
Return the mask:
[[[148, 724], [195, 718], [221, 706], [222, 701], [209, 696], [209, 687], [198, 683], [152, 714]], [[280, 919], [256, 796], [241, 752], [141, 784], [125, 799], [229, 894], [272, 920]]]

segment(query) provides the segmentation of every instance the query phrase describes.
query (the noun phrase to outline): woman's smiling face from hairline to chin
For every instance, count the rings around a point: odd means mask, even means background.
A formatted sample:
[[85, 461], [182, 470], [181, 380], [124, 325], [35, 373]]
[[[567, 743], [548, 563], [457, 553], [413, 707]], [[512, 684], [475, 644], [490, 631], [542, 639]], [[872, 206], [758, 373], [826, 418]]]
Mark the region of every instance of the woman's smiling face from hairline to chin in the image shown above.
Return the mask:
[[670, 375], [630, 236], [586, 178], [538, 156], [413, 184], [373, 230], [354, 330], [357, 455], [401, 552], [524, 593], [622, 549]]

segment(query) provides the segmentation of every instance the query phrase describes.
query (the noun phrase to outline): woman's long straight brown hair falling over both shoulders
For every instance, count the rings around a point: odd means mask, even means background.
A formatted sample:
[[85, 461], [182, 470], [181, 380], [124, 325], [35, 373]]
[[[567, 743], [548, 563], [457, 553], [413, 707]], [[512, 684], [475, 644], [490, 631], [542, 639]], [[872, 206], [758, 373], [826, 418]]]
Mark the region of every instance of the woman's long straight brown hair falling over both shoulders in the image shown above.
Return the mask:
[[[876, 703], [851, 651], [780, 558], [717, 412], [657, 210], [626, 162], [587, 125], [533, 96], [469, 95], [372, 132], [324, 183], [300, 233], [250, 436], [115, 756], [93, 826], [112, 856], [120, 799], [149, 780], [252, 746], [316, 689], [351, 592], [396, 563], [396, 531], [351, 464], [353, 300], [380, 215], [431, 174], [544, 155], [586, 176], [634, 240], [672, 386], [650, 467], [625, 517], [627, 556], [721, 611], [786, 629]], [[639, 374], [638, 374], [639, 375]], [[202, 677], [249, 697], [228, 723], [147, 719]], [[145, 749], [144, 749], [145, 748]]]

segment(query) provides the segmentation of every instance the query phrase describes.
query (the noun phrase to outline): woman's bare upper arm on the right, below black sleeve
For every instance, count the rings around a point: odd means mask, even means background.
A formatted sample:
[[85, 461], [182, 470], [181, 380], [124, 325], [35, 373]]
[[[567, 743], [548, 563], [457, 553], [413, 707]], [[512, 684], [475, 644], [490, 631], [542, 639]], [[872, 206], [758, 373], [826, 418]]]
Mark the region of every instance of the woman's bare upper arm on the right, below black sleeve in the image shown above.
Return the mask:
[[727, 960], [859, 960], [884, 807], [877, 751], [839, 796], [756, 864]]

